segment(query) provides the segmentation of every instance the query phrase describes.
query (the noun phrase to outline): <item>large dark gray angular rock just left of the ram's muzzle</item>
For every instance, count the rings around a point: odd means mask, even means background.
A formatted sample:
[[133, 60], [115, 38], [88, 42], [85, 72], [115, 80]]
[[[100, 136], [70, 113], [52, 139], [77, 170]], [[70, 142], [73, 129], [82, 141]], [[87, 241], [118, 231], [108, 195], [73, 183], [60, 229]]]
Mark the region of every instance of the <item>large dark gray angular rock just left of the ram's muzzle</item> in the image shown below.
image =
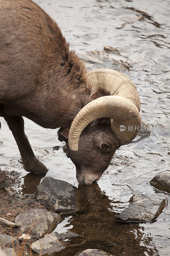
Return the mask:
[[45, 177], [37, 187], [36, 199], [54, 212], [73, 212], [76, 205], [77, 188], [63, 180]]

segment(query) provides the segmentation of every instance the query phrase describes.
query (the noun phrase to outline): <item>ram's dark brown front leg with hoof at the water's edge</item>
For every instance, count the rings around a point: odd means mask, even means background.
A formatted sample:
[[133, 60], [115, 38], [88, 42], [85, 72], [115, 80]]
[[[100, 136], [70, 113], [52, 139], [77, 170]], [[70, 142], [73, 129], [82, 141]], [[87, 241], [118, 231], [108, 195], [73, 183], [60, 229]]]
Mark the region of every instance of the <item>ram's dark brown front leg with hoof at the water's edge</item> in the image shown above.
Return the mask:
[[23, 161], [23, 168], [33, 174], [46, 173], [48, 169], [34, 156], [28, 138], [24, 132], [24, 119], [22, 116], [4, 116], [19, 148]]

